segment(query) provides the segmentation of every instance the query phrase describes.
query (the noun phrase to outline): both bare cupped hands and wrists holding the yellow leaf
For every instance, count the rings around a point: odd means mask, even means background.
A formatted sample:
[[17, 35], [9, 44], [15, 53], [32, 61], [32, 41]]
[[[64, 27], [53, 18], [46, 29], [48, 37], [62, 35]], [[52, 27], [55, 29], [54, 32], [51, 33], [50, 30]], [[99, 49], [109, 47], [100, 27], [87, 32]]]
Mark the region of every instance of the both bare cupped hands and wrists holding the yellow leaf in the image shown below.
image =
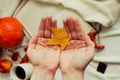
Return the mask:
[[59, 46], [48, 46], [53, 35], [49, 27], [57, 26], [51, 16], [41, 19], [37, 35], [28, 45], [27, 55], [34, 65], [31, 80], [53, 80], [60, 66], [63, 80], [84, 80], [84, 71], [93, 58], [94, 44], [82, 30], [79, 20], [71, 17], [63, 20], [70, 44], [61, 51]]

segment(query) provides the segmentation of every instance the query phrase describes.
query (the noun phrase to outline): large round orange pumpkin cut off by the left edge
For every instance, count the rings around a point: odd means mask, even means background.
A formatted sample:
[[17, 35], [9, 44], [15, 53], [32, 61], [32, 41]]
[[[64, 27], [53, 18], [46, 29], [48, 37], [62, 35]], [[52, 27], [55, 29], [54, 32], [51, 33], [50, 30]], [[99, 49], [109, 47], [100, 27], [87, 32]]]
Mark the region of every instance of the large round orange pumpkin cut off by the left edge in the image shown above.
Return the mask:
[[22, 24], [12, 17], [0, 19], [0, 47], [13, 48], [18, 46], [24, 37]]

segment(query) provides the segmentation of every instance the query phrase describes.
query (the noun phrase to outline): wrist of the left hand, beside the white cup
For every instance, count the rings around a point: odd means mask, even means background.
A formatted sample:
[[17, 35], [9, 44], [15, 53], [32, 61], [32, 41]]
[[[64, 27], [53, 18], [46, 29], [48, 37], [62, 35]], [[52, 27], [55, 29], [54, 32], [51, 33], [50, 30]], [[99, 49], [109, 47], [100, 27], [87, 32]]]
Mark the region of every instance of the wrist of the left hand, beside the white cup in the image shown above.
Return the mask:
[[34, 67], [30, 80], [53, 80], [54, 73], [40, 67]]

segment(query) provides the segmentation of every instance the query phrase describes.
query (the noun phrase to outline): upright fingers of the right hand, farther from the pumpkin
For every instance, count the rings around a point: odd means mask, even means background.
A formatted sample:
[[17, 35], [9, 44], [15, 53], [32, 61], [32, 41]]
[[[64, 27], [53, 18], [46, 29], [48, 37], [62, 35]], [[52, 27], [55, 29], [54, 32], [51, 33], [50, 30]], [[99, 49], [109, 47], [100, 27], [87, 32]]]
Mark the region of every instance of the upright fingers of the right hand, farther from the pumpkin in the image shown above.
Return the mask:
[[79, 20], [68, 17], [63, 20], [64, 27], [66, 28], [69, 38], [73, 40], [85, 40], [85, 33], [82, 30]]

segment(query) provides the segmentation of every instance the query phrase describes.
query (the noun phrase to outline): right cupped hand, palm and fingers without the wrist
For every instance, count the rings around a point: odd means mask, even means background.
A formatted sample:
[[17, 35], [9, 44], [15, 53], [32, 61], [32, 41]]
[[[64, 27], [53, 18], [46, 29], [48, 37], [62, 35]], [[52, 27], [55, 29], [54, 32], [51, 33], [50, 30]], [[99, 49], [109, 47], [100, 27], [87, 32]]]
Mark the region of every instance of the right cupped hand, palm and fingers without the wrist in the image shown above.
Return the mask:
[[93, 59], [94, 43], [82, 30], [79, 20], [71, 17], [63, 20], [70, 44], [61, 52], [60, 68], [62, 73], [69, 71], [84, 72], [86, 66]]

